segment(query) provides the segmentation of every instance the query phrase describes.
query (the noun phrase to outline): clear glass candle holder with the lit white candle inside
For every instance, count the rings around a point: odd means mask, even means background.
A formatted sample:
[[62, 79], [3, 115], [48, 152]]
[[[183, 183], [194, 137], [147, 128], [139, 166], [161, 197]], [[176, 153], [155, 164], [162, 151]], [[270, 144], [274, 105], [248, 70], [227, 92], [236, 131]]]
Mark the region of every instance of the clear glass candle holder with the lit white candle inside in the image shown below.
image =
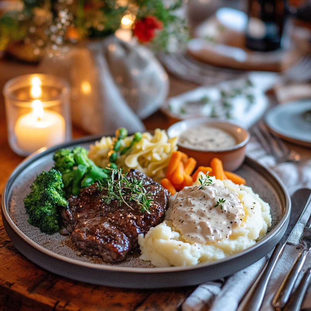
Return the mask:
[[69, 91], [65, 80], [46, 74], [23, 75], [5, 84], [8, 140], [14, 152], [29, 156], [71, 139]]

